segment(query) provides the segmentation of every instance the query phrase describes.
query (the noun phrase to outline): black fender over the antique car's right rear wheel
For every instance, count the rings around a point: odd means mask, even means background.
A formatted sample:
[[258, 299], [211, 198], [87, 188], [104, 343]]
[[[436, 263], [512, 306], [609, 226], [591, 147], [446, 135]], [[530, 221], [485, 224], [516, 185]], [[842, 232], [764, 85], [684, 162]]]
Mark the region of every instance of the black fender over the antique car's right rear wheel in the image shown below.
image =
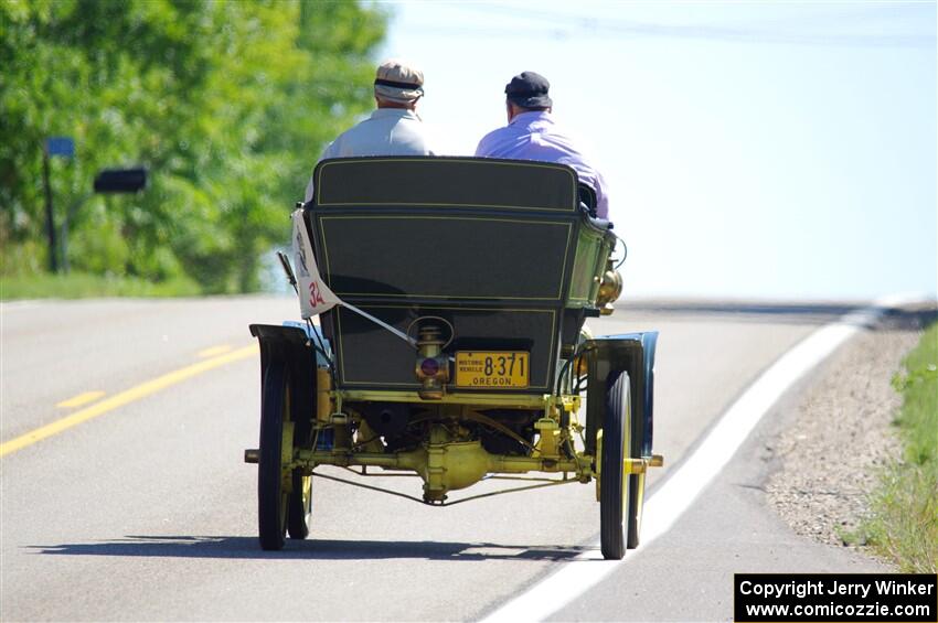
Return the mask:
[[596, 432], [603, 421], [606, 382], [609, 373], [625, 370], [629, 375], [632, 396], [630, 453], [632, 458], [650, 458], [654, 437], [654, 354], [658, 332], [622, 333], [587, 340], [580, 346], [586, 354], [589, 377], [586, 394], [586, 450], [596, 450]]

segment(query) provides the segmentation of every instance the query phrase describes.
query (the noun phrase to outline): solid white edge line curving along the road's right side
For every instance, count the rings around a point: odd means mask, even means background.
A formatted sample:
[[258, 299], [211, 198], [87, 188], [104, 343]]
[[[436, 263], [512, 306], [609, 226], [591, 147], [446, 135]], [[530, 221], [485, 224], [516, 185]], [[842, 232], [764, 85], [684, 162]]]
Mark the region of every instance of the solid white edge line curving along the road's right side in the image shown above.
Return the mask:
[[[716, 426], [681, 464], [676, 472], [644, 505], [641, 546], [667, 533], [691, 506], [707, 484], [720, 473], [743, 444], [756, 425], [798, 379], [824, 361], [861, 329], [875, 322], [889, 309], [927, 301], [918, 294], [897, 294], [876, 300], [872, 307], [851, 312], [822, 326], [785, 353], [743, 393], [721, 416]], [[571, 559], [561, 569], [489, 613], [482, 623], [518, 623], [544, 621], [604, 578], [632, 559], [603, 560], [590, 549]], [[635, 551], [635, 550], [633, 550]]]

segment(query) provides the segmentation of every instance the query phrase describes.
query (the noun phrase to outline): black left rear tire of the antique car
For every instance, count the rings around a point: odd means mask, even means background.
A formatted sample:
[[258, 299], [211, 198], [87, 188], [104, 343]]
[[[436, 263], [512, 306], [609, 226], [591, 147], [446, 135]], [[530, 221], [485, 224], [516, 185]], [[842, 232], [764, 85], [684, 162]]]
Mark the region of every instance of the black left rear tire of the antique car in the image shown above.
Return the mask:
[[264, 373], [260, 396], [260, 459], [257, 464], [257, 529], [260, 547], [284, 547], [287, 531], [287, 498], [284, 491], [281, 445], [284, 420], [289, 418], [287, 367], [271, 362]]

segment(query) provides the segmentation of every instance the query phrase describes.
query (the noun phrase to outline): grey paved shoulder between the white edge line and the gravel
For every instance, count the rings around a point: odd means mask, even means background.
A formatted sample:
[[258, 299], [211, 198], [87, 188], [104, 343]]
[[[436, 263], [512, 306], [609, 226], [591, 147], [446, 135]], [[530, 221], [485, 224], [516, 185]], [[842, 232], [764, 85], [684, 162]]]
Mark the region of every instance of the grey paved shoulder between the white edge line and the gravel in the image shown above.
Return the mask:
[[[786, 434], [795, 434], [796, 439], [804, 434], [796, 432], [802, 417], [801, 407], [828, 390], [828, 379], [832, 375], [833, 378], [851, 375], [862, 387], [876, 385], [878, 377], [873, 376], [874, 370], [859, 368], [856, 357], [875, 361], [887, 368], [889, 372], [883, 383], [888, 388], [892, 370], [895, 369], [891, 366], [893, 363], [897, 365], [906, 346], [917, 340], [915, 329], [906, 326], [908, 318], [899, 315], [902, 322], [898, 325], [895, 318], [887, 316], [885, 323], [876, 329], [862, 330], [813, 372], [789, 387], [726, 468], [665, 535], [630, 552], [628, 565], [554, 613], [551, 620], [729, 620], [734, 573], [891, 571], [887, 563], [862, 549], [806, 538], [776, 511], [769, 501], [768, 487], [772, 479], [784, 479], [786, 473], [801, 470], [801, 475], [811, 477], [816, 475], [813, 472], [827, 471], [823, 463], [798, 463], [797, 456], [791, 455], [787, 456], [791, 460], [789, 472], [781, 472], [786, 456], [779, 454], [780, 440]], [[896, 331], [908, 333], [903, 337], [905, 342], [895, 334]], [[875, 340], [877, 345], [882, 341], [891, 341], [893, 350], [883, 348], [882, 357], [872, 357], [870, 340]], [[856, 394], [856, 389], [853, 390]], [[849, 395], [851, 389], [845, 391]], [[848, 437], [850, 430], [846, 427]], [[818, 432], [818, 437], [824, 437], [824, 433]], [[831, 441], [846, 443], [842, 438]], [[851, 452], [849, 447], [844, 450]], [[839, 460], [832, 454], [825, 456], [825, 461]], [[810, 507], [801, 512], [806, 517], [813, 513]], [[675, 579], [675, 574], [680, 580]]]

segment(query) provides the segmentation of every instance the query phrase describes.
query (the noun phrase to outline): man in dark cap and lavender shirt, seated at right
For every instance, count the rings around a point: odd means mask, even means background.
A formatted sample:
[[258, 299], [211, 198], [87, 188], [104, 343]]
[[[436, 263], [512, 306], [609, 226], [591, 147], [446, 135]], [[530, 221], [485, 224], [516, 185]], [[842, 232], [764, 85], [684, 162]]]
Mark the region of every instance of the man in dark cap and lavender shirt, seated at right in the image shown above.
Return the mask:
[[567, 164], [576, 171], [580, 182], [596, 192], [596, 215], [608, 218], [606, 181], [554, 123], [551, 116], [554, 103], [547, 95], [550, 88], [547, 78], [534, 72], [522, 72], [511, 78], [504, 87], [508, 126], [482, 137], [476, 155]]

